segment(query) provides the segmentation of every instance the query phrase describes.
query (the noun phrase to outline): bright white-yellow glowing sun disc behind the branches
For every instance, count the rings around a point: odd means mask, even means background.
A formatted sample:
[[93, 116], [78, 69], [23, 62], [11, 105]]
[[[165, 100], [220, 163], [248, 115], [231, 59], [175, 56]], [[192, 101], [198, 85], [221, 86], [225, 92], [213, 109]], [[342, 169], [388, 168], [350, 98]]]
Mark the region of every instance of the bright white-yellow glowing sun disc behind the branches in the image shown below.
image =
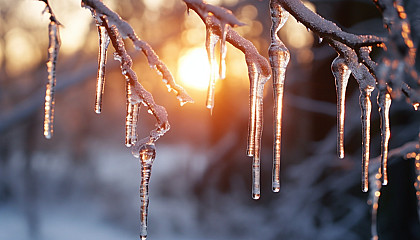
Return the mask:
[[182, 86], [197, 90], [207, 90], [210, 66], [204, 47], [192, 48], [178, 60], [178, 79]]

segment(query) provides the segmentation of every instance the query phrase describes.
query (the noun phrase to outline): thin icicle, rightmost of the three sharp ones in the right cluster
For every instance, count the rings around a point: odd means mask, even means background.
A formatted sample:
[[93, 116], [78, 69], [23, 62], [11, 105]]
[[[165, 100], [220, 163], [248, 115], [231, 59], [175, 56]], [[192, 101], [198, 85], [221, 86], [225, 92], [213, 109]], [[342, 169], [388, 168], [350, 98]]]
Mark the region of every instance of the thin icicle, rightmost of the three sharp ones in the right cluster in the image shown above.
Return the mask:
[[381, 181], [388, 184], [388, 143], [391, 136], [389, 128], [389, 108], [391, 107], [391, 95], [386, 90], [380, 90], [378, 94], [379, 115], [381, 117]]

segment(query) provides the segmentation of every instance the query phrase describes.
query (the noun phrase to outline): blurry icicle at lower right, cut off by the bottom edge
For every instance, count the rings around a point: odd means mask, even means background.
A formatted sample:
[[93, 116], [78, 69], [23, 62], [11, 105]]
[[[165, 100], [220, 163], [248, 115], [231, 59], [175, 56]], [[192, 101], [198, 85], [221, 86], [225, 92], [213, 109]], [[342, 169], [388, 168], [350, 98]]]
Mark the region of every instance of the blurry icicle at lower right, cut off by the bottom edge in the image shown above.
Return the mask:
[[379, 197], [381, 196], [381, 174], [377, 173], [374, 177], [370, 178], [370, 185], [373, 187], [370, 191], [370, 196], [368, 204], [372, 205], [372, 215], [371, 215], [371, 235], [372, 240], [378, 240], [378, 230], [377, 230], [377, 217], [378, 217], [378, 207], [379, 207]]

